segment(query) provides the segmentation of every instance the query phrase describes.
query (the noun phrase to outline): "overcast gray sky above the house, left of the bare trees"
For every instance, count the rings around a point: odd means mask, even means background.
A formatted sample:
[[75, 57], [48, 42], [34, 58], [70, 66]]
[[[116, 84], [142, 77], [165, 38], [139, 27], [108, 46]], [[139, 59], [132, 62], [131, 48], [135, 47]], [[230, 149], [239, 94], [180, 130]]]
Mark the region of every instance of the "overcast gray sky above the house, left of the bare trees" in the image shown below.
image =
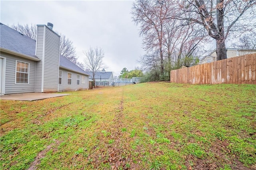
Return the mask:
[[66, 35], [82, 61], [90, 46], [105, 51], [106, 71], [119, 75], [122, 68], [139, 66], [144, 54], [139, 28], [130, 14], [133, 1], [0, 1], [1, 22], [47, 24]]

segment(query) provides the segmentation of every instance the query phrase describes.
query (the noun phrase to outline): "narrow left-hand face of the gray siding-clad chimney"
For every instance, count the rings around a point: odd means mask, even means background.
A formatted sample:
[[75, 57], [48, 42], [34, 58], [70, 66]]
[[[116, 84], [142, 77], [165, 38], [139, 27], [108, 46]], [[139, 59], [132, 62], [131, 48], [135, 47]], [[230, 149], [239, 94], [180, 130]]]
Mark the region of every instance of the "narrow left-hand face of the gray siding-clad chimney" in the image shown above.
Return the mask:
[[41, 92], [41, 87], [42, 87], [43, 50], [44, 50], [44, 27], [38, 26], [37, 40], [36, 40], [36, 56], [38, 58], [40, 58], [41, 61], [36, 62], [36, 90], [35, 90], [35, 92]]

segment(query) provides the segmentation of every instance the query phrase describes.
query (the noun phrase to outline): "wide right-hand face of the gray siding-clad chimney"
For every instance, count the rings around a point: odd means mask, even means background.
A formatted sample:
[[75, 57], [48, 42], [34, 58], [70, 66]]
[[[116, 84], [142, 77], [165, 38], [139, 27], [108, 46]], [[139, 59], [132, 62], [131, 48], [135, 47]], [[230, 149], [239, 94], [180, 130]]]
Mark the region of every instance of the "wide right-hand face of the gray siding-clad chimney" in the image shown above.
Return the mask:
[[44, 51], [44, 92], [58, 91], [60, 38], [46, 28]]

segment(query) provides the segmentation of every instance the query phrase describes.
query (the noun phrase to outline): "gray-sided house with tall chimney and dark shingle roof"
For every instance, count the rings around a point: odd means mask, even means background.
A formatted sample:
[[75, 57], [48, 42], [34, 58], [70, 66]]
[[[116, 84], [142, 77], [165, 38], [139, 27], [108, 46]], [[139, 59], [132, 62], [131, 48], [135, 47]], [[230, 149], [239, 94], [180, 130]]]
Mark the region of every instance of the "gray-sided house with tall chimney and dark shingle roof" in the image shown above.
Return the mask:
[[0, 23], [0, 94], [88, 89], [86, 72], [60, 55], [53, 25], [37, 25], [37, 40]]

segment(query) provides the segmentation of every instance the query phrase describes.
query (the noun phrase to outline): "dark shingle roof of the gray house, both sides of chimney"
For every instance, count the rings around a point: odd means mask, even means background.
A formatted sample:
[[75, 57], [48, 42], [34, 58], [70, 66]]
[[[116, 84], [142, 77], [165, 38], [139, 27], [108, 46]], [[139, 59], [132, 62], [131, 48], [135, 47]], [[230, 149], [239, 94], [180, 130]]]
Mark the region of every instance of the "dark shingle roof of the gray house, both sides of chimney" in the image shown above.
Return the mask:
[[[2, 23], [0, 23], [0, 47], [17, 53], [28, 55], [40, 61], [40, 59], [35, 55], [36, 41], [28, 36], [22, 35], [20, 32]], [[59, 66], [64, 69], [88, 75], [86, 74], [86, 71], [84, 71], [62, 55], [60, 55]]]

